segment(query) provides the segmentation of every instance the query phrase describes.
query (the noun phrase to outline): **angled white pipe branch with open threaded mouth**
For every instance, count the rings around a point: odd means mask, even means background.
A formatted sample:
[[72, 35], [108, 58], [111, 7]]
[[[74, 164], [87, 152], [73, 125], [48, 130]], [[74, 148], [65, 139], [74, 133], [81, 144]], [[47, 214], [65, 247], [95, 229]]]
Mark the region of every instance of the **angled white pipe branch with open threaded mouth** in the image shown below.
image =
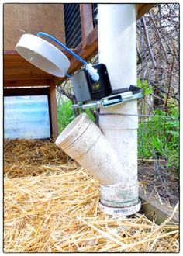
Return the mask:
[[102, 131], [86, 114], [74, 119], [55, 143], [101, 184], [116, 185], [122, 180], [118, 157]]

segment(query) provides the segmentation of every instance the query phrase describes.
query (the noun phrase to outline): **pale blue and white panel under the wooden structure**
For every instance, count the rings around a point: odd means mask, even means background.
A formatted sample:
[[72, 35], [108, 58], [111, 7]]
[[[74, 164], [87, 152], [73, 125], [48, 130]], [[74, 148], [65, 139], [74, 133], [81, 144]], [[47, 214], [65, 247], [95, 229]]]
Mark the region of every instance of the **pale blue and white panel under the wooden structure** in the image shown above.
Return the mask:
[[50, 137], [47, 95], [4, 97], [4, 138]]

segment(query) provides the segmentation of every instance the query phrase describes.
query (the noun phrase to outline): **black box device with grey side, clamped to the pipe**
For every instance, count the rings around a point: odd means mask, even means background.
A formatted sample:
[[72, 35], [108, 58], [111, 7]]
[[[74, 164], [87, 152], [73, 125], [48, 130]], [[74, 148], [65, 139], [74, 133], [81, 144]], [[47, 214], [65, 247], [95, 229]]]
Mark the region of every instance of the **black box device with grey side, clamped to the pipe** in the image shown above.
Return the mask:
[[98, 81], [94, 81], [86, 69], [81, 69], [71, 77], [74, 86], [74, 95], [78, 102], [99, 100], [112, 93], [109, 74], [105, 64], [95, 64], [92, 67], [99, 74]]

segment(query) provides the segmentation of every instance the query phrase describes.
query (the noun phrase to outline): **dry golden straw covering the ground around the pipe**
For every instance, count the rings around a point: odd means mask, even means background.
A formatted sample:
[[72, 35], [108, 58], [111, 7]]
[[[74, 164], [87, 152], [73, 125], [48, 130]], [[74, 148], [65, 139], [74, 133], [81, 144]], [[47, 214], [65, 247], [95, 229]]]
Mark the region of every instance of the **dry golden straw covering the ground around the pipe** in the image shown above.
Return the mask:
[[5, 142], [5, 252], [178, 251], [178, 225], [105, 216], [99, 185], [51, 142]]

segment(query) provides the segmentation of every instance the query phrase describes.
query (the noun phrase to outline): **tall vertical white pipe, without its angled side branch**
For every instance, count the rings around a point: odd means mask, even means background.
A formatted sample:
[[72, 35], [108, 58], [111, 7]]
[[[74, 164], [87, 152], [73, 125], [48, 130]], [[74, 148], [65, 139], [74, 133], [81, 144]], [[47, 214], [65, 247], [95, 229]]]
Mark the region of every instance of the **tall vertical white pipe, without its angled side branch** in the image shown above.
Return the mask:
[[[98, 55], [112, 90], [136, 85], [136, 5], [98, 4]], [[123, 115], [125, 114], [125, 115]], [[129, 116], [126, 116], [129, 114]], [[99, 126], [122, 165], [116, 185], [101, 185], [100, 209], [127, 216], [140, 210], [137, 183], [137, 101], [100, 109]]]

